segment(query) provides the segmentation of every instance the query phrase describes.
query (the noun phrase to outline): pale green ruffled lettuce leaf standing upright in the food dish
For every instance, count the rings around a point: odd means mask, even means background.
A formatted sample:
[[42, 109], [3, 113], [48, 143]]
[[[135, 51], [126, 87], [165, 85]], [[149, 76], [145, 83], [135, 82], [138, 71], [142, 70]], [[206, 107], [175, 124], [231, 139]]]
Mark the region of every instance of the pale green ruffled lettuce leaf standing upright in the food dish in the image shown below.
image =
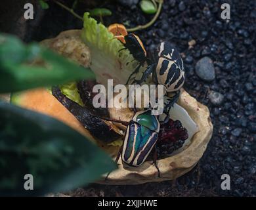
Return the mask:
[[113, 79], [114, 85], [125, 84], [139, 62], [104, 25], [90, 18], [88, 12], [83, 21], [81, 37], [91, 51], [90, 68], [98, 83], [107, 87], [107, 79]]

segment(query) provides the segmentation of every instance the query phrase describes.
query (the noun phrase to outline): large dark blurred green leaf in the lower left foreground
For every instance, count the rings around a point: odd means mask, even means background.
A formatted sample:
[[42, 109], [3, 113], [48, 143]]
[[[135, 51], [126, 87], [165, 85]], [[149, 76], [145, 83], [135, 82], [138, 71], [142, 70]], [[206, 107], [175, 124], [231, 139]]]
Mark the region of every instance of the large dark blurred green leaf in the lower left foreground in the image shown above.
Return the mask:
[[[0, 102], [0, 194], [65, 192], [116, 169], [112, 158], [52, 117]], [[24, 175], [33, 190], [24, 190]]]

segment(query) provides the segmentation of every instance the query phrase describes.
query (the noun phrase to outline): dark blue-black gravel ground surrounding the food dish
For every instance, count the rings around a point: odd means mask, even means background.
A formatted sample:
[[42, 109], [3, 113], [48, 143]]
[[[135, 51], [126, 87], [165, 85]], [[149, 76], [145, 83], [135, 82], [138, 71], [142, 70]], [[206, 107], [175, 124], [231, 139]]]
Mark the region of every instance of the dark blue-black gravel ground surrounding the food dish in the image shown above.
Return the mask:
[[[222, 3], [230, 3], [230, 21], [221, 19]], [[104, 19], [106, 25], [125, 22], [133, 27], [152, 18], [139, 7], [100, 6], [113, 12]], [[255, 8], [253, 0], [165, 0], [154, 26], [135, 33], [147, 49], [170, 41], [181, 52], [186, 69], [184, 89], [211, 111], [214, 131], [207, 150], [196, 167], [177, 180], [135, 186], [91, 184], [72, 192], [73, 196], [256, 196]], [[70, 28], [81, 28], [81, 22], [51, 4], [32, 39], [54, 37]], [[192, 40], [196, 43], [189, 47]], [[204, 81], [195, 73], [196, 63], [205, 56], [213, 60], [213, 81]], [[221, 105], [209, 100], [209, 91], [224, 96]], [[221, 190], [223, 174], [230, 175], [230, 190]]]

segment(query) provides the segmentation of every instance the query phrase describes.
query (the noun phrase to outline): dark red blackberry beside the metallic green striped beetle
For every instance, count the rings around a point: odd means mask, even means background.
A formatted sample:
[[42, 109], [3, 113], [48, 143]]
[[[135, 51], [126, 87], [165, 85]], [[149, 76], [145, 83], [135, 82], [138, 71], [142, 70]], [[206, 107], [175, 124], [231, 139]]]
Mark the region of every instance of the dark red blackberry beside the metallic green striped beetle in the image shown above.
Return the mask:
[[175, 150], [182, 147], [188, 138], [188, 131], [182, 127], [181, 121], [169, 119], [161, 125], [156, 150], [158, 158], [170, 156]]

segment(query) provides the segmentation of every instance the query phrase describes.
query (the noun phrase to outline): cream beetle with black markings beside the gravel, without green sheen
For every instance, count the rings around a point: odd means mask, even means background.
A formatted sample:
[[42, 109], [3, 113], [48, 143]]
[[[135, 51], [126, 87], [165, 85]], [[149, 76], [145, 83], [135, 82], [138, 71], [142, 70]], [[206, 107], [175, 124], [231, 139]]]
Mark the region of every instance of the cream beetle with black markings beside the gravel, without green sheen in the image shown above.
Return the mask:
[[[184, 66], [182, 58], [176, 47], [168, 42], [161, 42], [156, 52], [152, 53], [153, 62], [143, 72], [139, 80], [133, 83], [141, 84], [152, 74], [154, 83], [164, 85], [165, 91], [175, 93], [175, 96], [164, 97], [165, 107], [163, 112], [169, 114], [171, 106], [178, 100], [182, 85], [184, 84]], [[167, 119], [167, 118], [166, 118]]]

